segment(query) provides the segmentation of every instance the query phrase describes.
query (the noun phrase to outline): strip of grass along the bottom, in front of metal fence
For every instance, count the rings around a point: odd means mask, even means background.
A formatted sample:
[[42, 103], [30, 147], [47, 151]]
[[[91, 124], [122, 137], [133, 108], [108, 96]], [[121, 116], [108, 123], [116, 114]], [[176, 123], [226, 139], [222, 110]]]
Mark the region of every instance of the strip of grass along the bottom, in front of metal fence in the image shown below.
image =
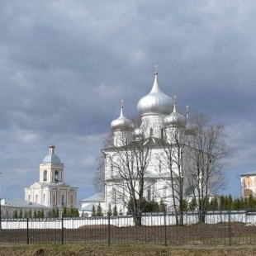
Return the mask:
[[62, 255], [90, 255], [90, 256], [159, 256], [159, 255], [229, 255], [229, 256], [249, 256], [256, 255], [255, 246], [181, 246], [164, 247], [149, 245], [112, 246], [92, 245], [92, 244], [65, 244], [65, 245], [14, 245], [0, 244], [1, 256], [62, 256]]

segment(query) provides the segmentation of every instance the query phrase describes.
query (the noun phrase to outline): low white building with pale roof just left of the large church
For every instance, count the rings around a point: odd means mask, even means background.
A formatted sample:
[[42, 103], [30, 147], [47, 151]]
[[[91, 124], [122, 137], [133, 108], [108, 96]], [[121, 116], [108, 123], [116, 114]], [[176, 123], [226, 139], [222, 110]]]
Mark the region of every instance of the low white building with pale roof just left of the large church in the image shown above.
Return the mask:
[[98, 192], [92, 197], [85, 198], [81, 201], [81, 208], [79, 209], [79, 216], [92, 216], [92, 207], [95, 207], [95, 211], [97, 211], [98, 205], [102, 206], [102, 212], [105, 209], [105, 195], [104, 192]]

